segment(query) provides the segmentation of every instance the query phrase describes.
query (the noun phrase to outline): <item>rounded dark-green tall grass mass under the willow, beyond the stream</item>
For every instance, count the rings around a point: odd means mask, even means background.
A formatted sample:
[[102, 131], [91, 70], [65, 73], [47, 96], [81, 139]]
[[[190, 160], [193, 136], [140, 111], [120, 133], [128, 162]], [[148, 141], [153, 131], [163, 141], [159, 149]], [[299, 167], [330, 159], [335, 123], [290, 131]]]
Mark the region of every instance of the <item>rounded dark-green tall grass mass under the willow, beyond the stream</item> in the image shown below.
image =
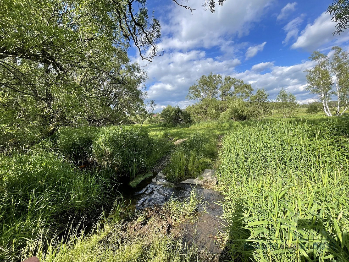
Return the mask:
[[104, 167], [114, 178], [133, 179], [169, 150], [165, 139], [133, 126], [61, 128], [56, 143], [69, 159]]

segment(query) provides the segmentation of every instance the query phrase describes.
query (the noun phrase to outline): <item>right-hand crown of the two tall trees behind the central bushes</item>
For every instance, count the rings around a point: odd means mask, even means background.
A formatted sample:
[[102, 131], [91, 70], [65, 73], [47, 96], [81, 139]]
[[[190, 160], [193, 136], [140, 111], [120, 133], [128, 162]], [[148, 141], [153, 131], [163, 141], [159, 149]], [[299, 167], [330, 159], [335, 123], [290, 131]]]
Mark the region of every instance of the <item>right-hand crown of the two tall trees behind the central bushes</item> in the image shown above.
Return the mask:
[[221, 81], [218, 90], [221, 100], [227, 100], [229, 97], [245, 100], [251, 96], [253, 88], [251, 85], [244, 83], [241, 79], [226, 76], [224, 80]]

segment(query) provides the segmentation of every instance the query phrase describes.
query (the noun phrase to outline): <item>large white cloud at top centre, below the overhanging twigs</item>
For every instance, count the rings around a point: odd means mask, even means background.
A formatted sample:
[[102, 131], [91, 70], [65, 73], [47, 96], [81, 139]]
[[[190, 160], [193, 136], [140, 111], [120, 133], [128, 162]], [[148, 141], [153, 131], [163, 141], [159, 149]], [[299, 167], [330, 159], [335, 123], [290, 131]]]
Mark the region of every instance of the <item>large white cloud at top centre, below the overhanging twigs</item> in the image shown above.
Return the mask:
[[216, 8], [215, 13], [205, 11], [200, 1], [192, 1], [193, 14], [185, 8], [175, 6], [160, 21], [164, 51], [175, 49], [187, 51], [191, 48], [211, 48], [227, 45], [237, 36], [249, 34], [254, 22], [265, 13], [271, 0], [226, 1]]

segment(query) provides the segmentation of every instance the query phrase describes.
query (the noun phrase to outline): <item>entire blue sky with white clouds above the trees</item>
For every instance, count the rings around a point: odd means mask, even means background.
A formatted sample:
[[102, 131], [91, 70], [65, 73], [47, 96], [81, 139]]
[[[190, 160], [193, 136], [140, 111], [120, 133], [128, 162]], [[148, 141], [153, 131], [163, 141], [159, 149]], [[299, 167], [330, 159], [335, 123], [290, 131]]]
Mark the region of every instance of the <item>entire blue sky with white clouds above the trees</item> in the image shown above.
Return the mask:
[[300, 103], [316, 101], [305, 89], [304, 70], [313, 66], [308, 57], [313, 51], [331, 56], [336, 45], [349, 50], [348, 31], [333, 35], [329, 0], [226, 0], [215, 13], [201, 0], [188, 0], [192, 12], [172, 0], [147, 3], [161, 23], [163, 54], [152, 63], [129, 55], [147, 72], [146, 101], [155, 100], [156, 112], [195, 103], [185, 98], [188, 89], [210, 72], [242, 79], [254, 90], [264, 87], [270, 100], [285, 88]]

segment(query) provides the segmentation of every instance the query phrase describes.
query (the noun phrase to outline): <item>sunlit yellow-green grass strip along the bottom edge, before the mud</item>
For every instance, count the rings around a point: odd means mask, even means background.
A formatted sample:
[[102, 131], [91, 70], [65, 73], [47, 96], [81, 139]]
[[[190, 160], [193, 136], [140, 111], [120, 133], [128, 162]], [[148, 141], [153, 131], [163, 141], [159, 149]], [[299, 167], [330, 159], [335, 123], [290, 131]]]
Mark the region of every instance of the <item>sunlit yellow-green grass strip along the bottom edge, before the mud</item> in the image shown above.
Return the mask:
[[[99, 227], [99, 225], [97, 225]], [[95, 261], [144, 261], [144, 262], [191, 262], [201, 261], [195, 249], [187, 249], [181, 239], [168, 236], [126, 237], [120, 223], [107, 223], [95, 234], [71, 232], [69, 240], [51, 241], [49, 248], [38, 237], [30, 241], [22, 259], [36, 255], [41, 262], [95, 262]], [[153, 232], [149, 232], [149, 235]]]

